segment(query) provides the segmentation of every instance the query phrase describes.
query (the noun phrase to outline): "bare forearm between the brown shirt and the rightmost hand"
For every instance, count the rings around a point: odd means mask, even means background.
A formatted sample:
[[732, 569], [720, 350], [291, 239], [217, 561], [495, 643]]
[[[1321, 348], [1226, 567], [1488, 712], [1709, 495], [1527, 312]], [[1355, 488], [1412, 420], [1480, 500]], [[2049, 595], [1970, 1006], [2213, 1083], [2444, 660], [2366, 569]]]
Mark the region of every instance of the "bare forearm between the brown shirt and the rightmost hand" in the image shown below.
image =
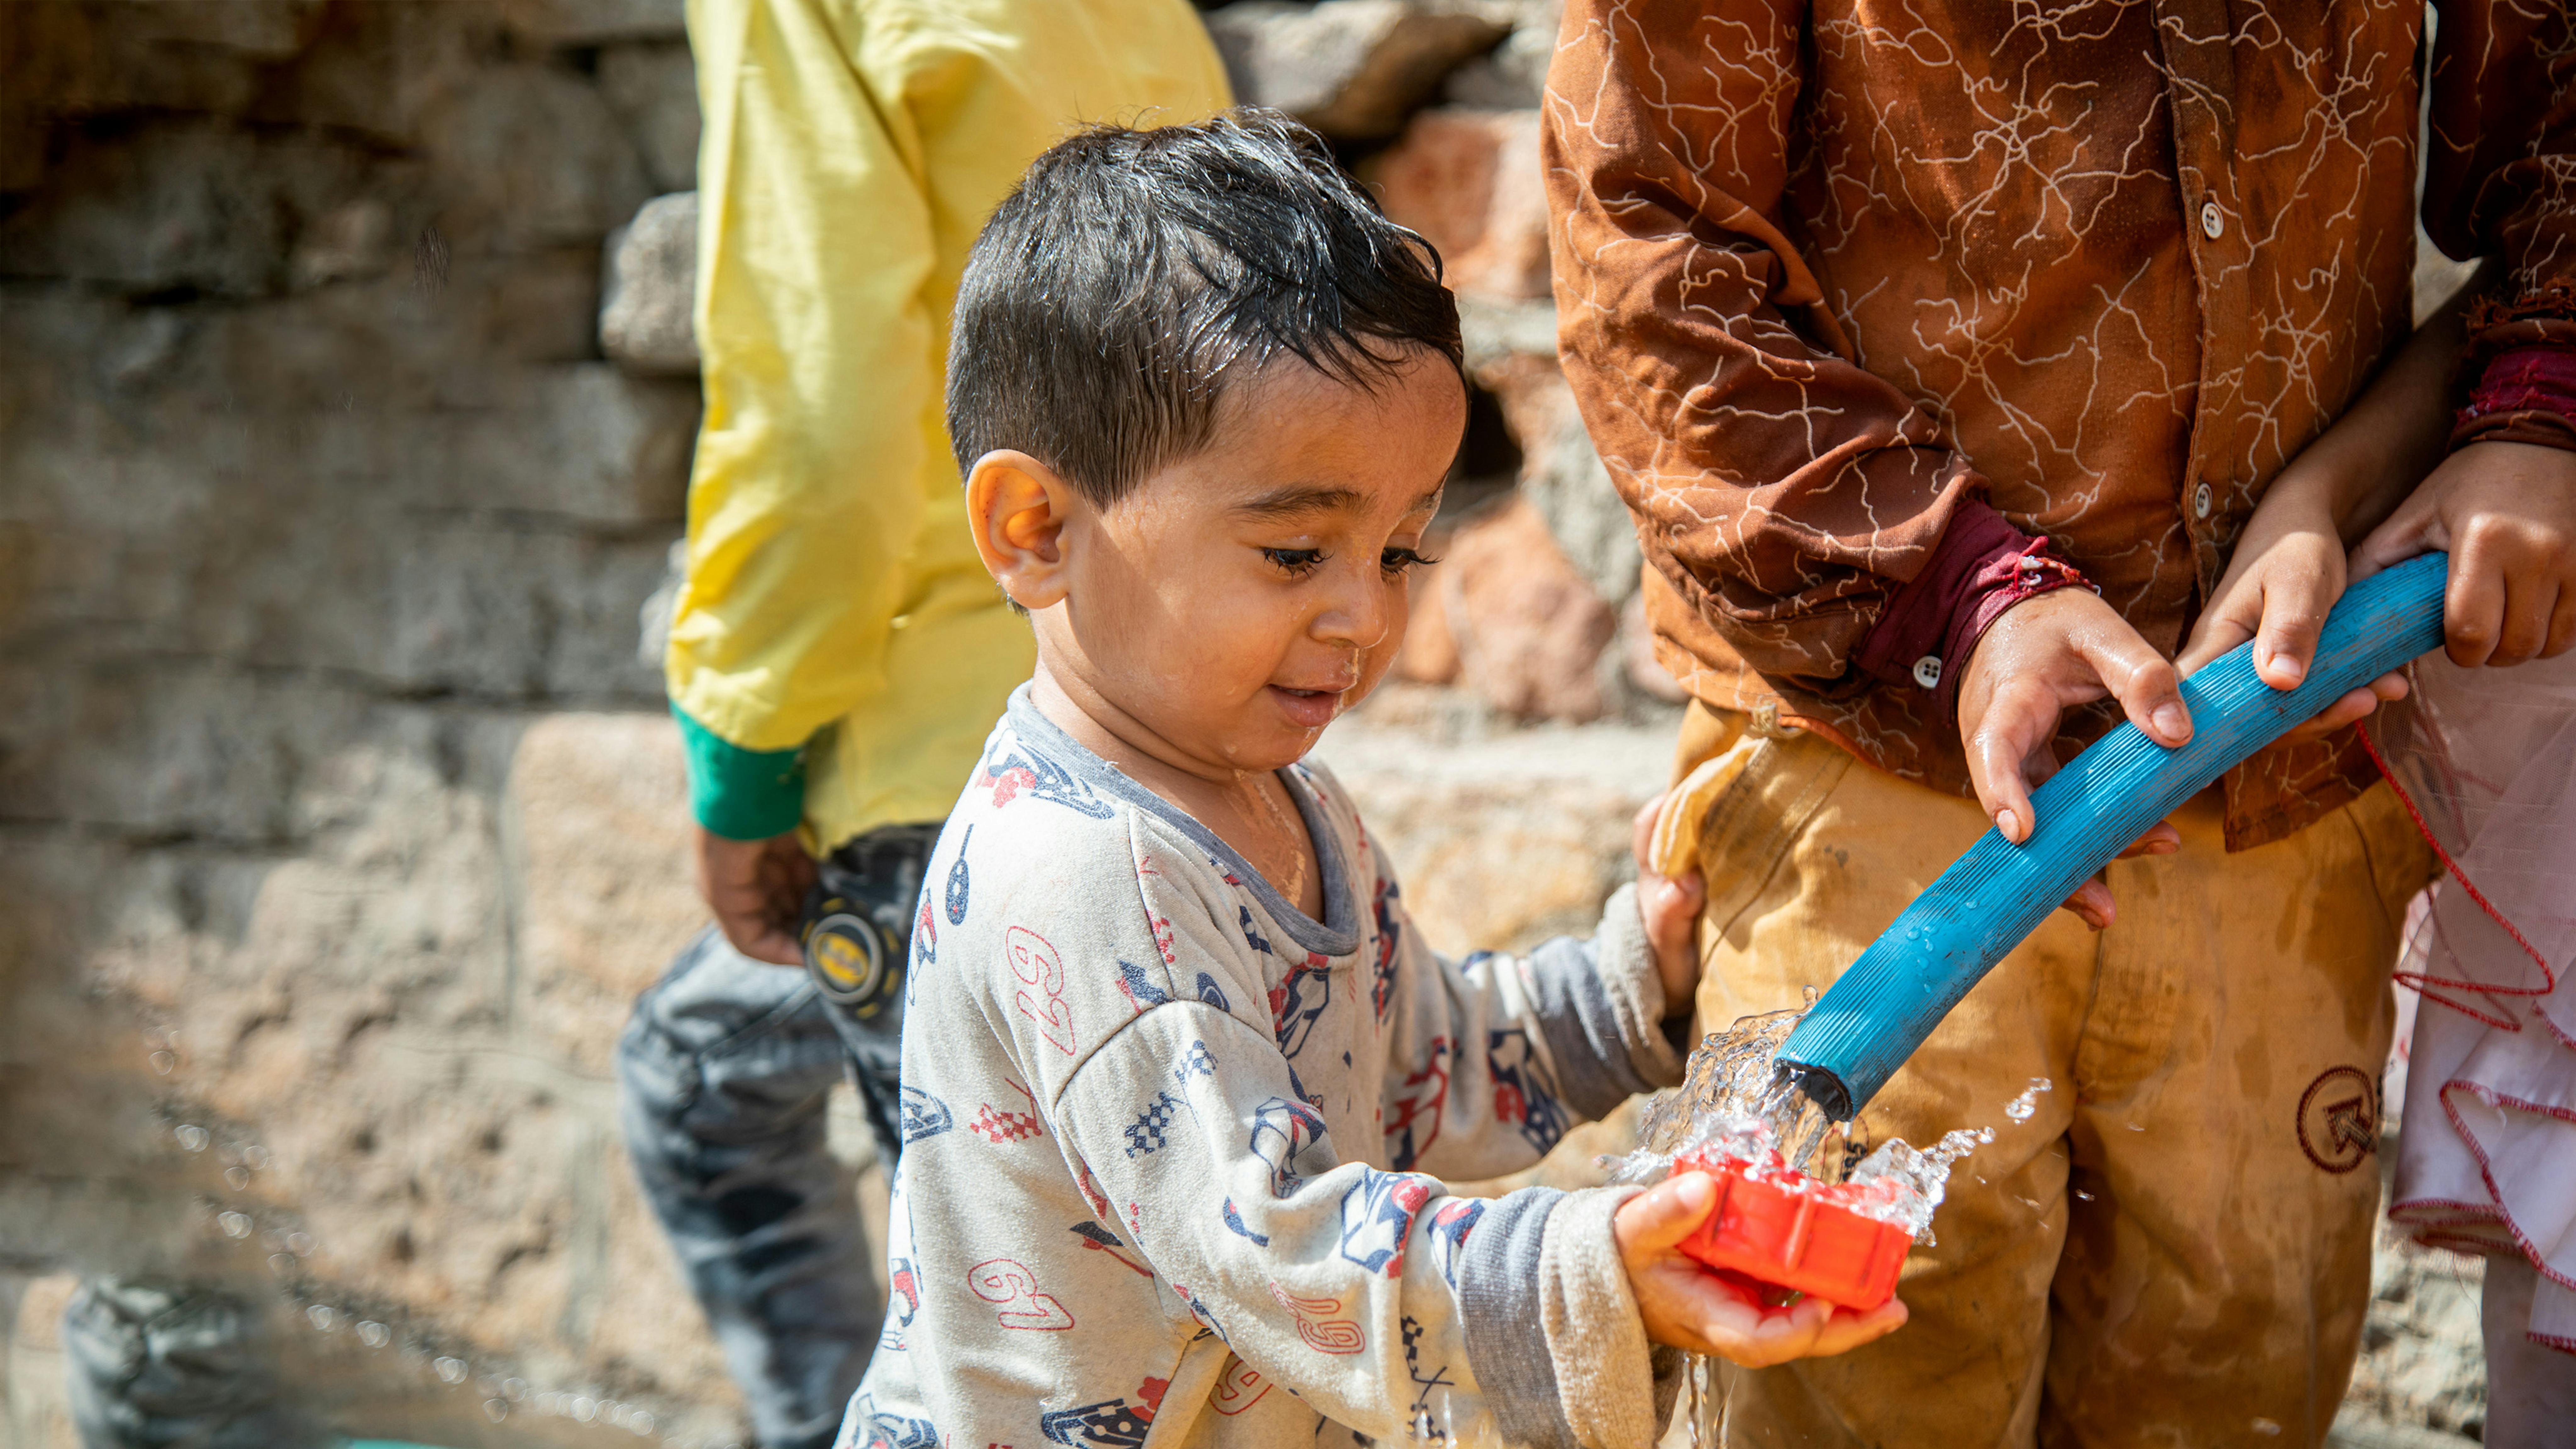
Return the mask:
[[2468, 343], [2468, 304], [2486, 271], [2465, 281], [2388, 358], [2362, 397], [2282, 469], [2272, 508], [2313, 508], [2349, 547], [2424, 480], [2450, 441], [2450, 394]]

